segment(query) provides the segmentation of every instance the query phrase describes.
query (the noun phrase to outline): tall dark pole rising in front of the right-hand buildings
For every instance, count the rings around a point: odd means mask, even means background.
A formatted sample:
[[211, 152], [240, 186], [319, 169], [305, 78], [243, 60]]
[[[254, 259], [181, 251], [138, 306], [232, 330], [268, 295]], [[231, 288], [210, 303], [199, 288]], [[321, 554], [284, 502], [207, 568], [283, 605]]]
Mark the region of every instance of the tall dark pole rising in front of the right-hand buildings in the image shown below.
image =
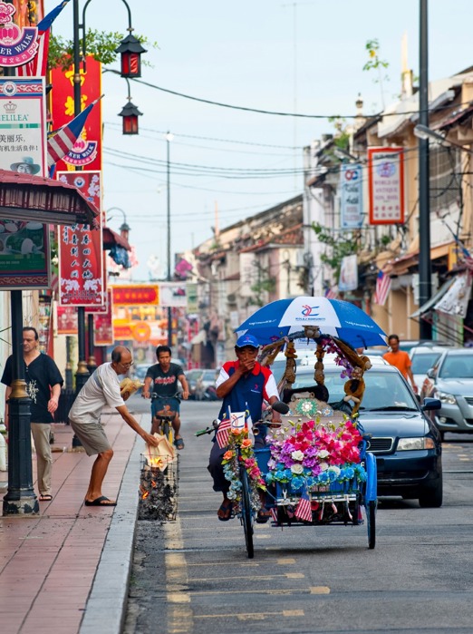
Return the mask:
[[[419, 122], [429, 127], [429, 47], [427, 0], [420, 0], [420, 90]], [[430, 263], [430, 169], [429, 139], [419, 140], [419, 306], [432, 294]], [[420, 338], [430, 339], [432, 327], [420, 319]]]

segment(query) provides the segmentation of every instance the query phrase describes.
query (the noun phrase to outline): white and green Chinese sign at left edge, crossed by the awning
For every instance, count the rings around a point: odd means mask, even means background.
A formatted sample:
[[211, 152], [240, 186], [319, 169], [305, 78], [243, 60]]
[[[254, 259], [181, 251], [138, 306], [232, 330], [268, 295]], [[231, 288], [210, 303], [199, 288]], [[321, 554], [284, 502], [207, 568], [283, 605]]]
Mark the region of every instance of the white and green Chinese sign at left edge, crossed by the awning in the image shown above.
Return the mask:
[[[0, 169], [44, 176], [41, 78], [0, 78]], [[49, 233], [41, 222], [0, 219], [0, 288], [49, 288]]]

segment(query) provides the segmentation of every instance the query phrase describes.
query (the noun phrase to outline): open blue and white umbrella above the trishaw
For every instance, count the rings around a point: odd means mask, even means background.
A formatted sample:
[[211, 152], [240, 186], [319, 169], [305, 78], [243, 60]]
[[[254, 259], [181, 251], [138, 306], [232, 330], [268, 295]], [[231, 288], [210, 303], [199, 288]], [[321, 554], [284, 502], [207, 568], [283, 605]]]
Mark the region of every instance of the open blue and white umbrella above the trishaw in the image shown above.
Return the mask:
[[327, 297], [278, 299], [256, 310], [235, 332], [249, 333], [265, 346], [300, 333], [304, 326], [316, 326], [321, 335], [338, 337], [353, 347], [386, 346], [386, 334], [372, 317], [350, 302]]

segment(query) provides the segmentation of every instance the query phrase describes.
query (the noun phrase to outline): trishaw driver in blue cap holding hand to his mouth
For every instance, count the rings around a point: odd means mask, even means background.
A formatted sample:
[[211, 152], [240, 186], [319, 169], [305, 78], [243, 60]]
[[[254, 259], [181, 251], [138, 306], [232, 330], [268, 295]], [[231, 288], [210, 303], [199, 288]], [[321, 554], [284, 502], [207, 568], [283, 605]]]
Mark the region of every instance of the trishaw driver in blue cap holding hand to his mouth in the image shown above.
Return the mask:
[[[223, 398], [222, 407], [218, 418], [223, 420], [228, 416], [228, 407], [232, 412], [244, 412], [246, 409], [254, 423], [260, 420], [263, 402], [273, 405], [279, 400], [275, 377], [268, 367], [261, 366], [256, 361], [259, 344], [256, 337], [242, 335], [235, 345], [236, 361], [227, 361], [222, 366], [217, 377], [216, 388], [218, 398]], [[273, 422], [280, 422], [280, 415], [273, 411]], [[265, 434], [256, 435], [255, 448], [265, 446]], [[228, 500], [227, 493], [230, 483], [227, 481], [222, 467], [223, 454], [227, 447], [220, 448], [214, 440], [208, 471], [214, 480], [214, 491], [223, 493], [223, 502], [217, 511], [218, 519], [227, 522], [232, 517], [232, 502]], [[264, 501], [258, 512], [256, 522], [267, 522], [270, 512], [265, 509]]]

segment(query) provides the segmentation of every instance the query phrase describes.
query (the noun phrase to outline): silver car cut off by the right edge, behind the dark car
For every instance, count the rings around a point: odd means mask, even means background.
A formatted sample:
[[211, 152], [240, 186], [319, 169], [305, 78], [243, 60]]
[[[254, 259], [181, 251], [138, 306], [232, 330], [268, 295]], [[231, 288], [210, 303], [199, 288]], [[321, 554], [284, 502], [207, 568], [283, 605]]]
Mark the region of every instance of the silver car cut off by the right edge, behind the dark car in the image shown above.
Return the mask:
[[427, 373], [420, 399], [439, 398], [431, 414], [442, 437], [446, 432], [473, 434], [473, 349], [446, 348]]

